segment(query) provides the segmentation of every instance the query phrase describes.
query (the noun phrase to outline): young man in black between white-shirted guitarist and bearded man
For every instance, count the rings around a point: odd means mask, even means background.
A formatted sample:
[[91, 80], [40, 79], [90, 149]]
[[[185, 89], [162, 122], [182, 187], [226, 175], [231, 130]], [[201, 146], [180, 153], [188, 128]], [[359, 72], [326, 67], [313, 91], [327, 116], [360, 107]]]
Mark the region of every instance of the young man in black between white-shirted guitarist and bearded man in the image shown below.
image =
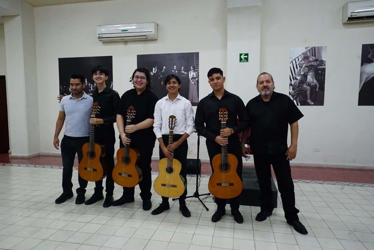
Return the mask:
[[[240, 152], [240, 142], [237, 133], [248, 127], [248, 115], [239, 96], [236, 96], [223, 87], [226, 78], [219, 68], [212, 68], [208, 72], [208, 82], [213, 89], [212, 93], [200, 100], [197, 105], [195, 127], [197, 133], [206, 138], [210, 163], [216, 154], [221, 153], [221, 146], [227, 145], [228, 153], [234, 154], [238, 160], [237, 174], [242, 178], [243, 162]], [[221, 129], [218, 112], [226, 107], [228, 120], [226, 129]], [[240, 123], [237, 118], [239, 117]], [[239, 196], [230, 200], [231, 214], [237, 223], [243, 223], [243, 216], [239, 212]], [[226, 199], [215, 198], [217, 211], [212, 216], [212, 222], [218, 222], [226, 213]]]

